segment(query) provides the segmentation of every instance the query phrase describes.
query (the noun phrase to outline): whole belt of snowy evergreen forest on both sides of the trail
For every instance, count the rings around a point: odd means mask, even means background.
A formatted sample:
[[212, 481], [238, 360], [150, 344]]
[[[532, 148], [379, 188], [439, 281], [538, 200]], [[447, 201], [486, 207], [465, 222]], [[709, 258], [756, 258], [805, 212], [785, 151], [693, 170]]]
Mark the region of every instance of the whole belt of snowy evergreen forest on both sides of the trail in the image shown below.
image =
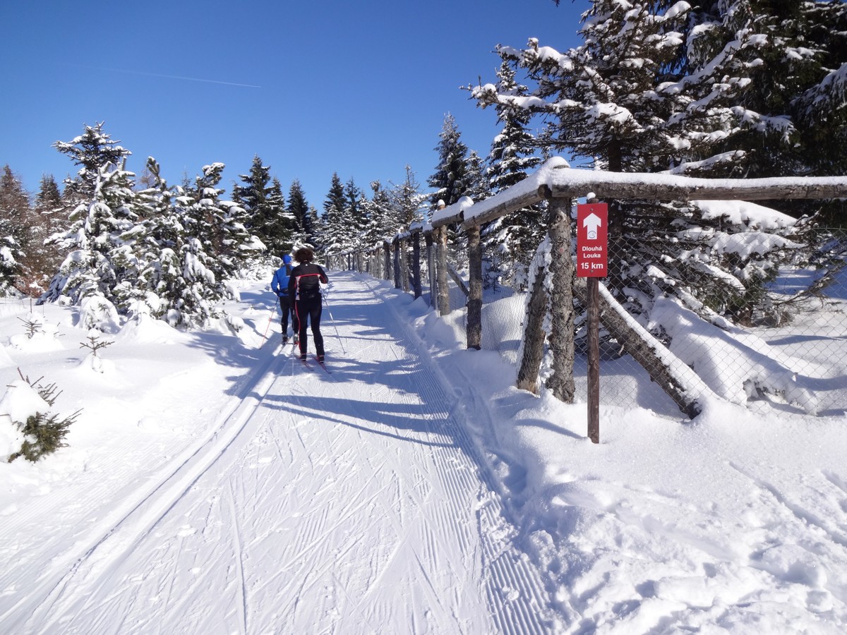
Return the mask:
[[[546, 157], [711, 178], [847, 174], [847, 4], [594, 0], [579, 36], [567, 51], [534, 39], [496, 48], [496, 76], [465, 87], [496, 115], [484, 152], [447, 114], [425, 187], [409, 166], [401, 183], [364, 188], [333, 174], [319, 210], [258, 156], [229, 190], [221, 163], [174, 184], [152, 157], [127, 171], [130, 149], [104, 124], [85, 125], [54, 144], [75, 169], [61, 184], [45, 174], [28, 192], [3, 167], [0, 294], [80, 306], [91, 327], [147, 314], [202, 328], [257, 262], [297, 246], [370, 249], [442, 203], [519, 183]], [[843, 201], [767, 202], [795, 219], [770, 225], [690, 201], [608, 203], [608, 284], [635, 313], [673, 294], [695, 297], [712, 320], [752, 323], [772, 313], [763, 289], [781, 264], [831, 267], [843, 248], [829, 232], [844, 224]], [[486, 284], [525, 290], [544, 237], [543, 204], [485, 227]], [[458, 228], [450, 240], [461, 268]]]

